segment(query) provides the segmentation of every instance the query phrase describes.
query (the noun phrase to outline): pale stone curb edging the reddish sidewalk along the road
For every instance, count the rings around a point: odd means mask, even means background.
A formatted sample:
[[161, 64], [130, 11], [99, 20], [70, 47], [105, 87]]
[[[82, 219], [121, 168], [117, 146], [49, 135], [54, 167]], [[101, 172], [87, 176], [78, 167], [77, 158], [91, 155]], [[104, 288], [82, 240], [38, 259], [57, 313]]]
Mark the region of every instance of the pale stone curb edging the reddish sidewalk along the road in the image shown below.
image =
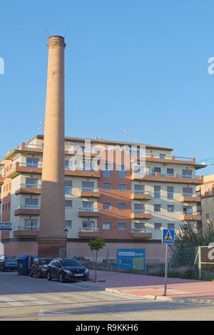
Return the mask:
[[136, 296], [135, 294], [128, 294], [121, 292], [119, 289], [105, 289], [106, 292], [111, 293], [119, 293], [123, 295], [128, 295], [131, 297], [141, 298], [141, 299], [152, 299], [156, 301], [170, 301], [170, 302], [180, 302], [185, 304], [213, 304], [214, 305], [214, 299], [200, 299], [200, 298], [179, 298], [179, 297], [164, 297], [164, 296], [157, 296], [157, 295], [143, 295], [143, 296]]

